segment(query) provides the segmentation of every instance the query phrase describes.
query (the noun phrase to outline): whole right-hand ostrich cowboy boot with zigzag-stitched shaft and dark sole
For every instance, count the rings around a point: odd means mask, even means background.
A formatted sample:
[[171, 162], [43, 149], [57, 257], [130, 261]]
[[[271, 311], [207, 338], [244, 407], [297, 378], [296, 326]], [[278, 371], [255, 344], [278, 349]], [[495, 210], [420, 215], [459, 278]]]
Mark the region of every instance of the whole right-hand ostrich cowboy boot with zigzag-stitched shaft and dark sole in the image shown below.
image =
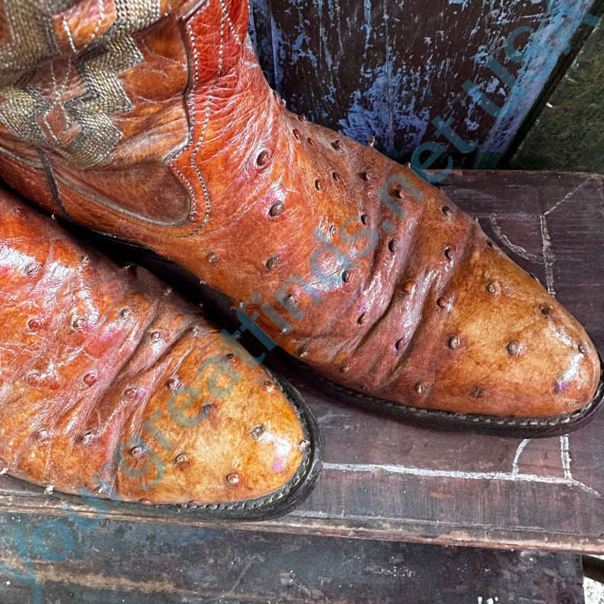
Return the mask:
[[286, 110], [246, 0], [4, 11], [0, 173], [28, 198], [198, 274], [348, 401], [518, 435], [599, 406], [585, 330], [468, 215]]

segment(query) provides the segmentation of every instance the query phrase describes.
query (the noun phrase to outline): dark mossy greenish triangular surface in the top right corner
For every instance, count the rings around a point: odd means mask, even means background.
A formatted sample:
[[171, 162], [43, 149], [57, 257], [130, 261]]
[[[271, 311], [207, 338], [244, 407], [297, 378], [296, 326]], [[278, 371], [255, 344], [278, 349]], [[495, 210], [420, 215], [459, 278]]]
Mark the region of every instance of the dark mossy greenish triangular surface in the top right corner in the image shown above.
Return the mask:
[[602, 23], [588, 38], [509, 165], [604, 173]]

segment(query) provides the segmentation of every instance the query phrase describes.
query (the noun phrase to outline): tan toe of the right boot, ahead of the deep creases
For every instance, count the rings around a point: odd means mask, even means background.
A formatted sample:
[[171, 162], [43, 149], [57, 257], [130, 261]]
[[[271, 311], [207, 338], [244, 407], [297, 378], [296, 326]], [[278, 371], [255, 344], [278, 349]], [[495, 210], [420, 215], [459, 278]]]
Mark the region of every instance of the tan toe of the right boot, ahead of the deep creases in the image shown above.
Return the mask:
[[453, 303], [434, 345], [441, 350], [433, 350], [439, 362], [425, 403], [498, 416], [588, 405], [600, 360], [583, 327], [501, 252], [487, 247], [472, 264], [448, 286]]

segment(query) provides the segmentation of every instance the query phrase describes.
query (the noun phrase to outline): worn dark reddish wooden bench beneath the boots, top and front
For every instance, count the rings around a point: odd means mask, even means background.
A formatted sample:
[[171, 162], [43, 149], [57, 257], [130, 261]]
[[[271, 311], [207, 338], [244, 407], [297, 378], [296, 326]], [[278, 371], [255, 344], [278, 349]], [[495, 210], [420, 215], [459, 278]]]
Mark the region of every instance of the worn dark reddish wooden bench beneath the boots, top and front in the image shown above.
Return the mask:
[[[524, 269], [539, 277], [549, 291], [586, 326], [596, 347], [604, 350], [604, 176], [456, 171], [446, 180], [443, 188], [455, 203], [478, 217], [485, 232], [505, 252]], [[301, 507], [273, 521], [240, 524], [229, 529], [193, 529], [190, 527], [203, 523], [195, 519], [192, 509], [168, 508], [158, 511], [150, 508], [143, 516], [134, 514], [127, 507], [118, 506], [109, 514], [109, 522], [114, 527], [112, 531], [99, 529], [87, 535], [86, 539], [82, 537], [77, 554], [74, 551], [70, 558], [57, 564], [57, 568], [62, 569], [60, 572], [68, 574], [73, 571], [76, 583], [80, 581], [77, 578], [80, 571], [86, 573], [87, 578], [82, 581], [88, 581], [87, 584], [92, 581], [90, 577], [97, 576], [100, 581], [98, 589], [103, 587], [101, 583], [104, 583], [104, 578], [111, 583], [111, 577], [114, 576], [116, 580], [119, 578], [119, 581], [125, 582], [124, 590], [127, 591], [128, 581], [137, 579], [130, 577], [126, 571], [114, 573], [112, 555], [107, 547], [109, 544], [122, 543], [115, 555], [126, 556], [124, 548], [129, 547], [128, 539], [139, 539], [136, 541], [139, 545], [131, 551], [131, 556], [134, 556], [131, 557], [131, 563], [141, 565], [141, 576], [146, 572], [148, 581], [157, 573], [157, 581], [163, 581], [161, 585], [166, 586], [169, 581], [176, 581], [179, 573], [187, 568], [187, 572], [195, 573], [195, 563], [191, 559], [191, 556], [195, 556], [199, 568], [205, 569], [204, 573], [215, 573], [214, 576], [223, 573], [225, 585], [230, 582], [234, 585], [230, 595], [228, 590], [221, 592], [220, 598], [224, 599], [220, 601], [240, 601], [234, 598], [239, 588], [246, 586], [246, 589], [254, 589], [252, 579], [248, 577], [252, 581], [249, 586], [246, 583], [248, 579], [244, 580], [252, 573], [250, 569], [260, 568], [254, 571], [260, 575], [264, 572], [254, 556], [263, 556], [259, 552], [266, 547], [266, 551], [269, 551], [267, 560], [270, 559], [270, 552], [274, 552], [278, 561], [280, 556], [284, 556], [283, 552], [291, 547], [292, 551], [301, 552], [301, 558], [306, 556], [308, 569], [316, 569], [308, 572], [308, 586], [312, 586], [308, 589], [311, 591], [303, 595], [306, 599], [283, 599], [286, 596], [280, 594], [294, 592], [279, 591], [290, 581], [284, 570], [286, 567], [279, 567], [279, 573], [285, 573], [280, 575], [279, 581], [285, 583], [278, 581], [281, 587], [275, 587], [274, 595], [268, 600], [312, 601], [313, 589], [323, 593], [317, 581], [319, 577], [324, 577], [327, 583], [332, 579], [336, 583], [348, 581], [350, 594], [359, 594], [357, 600], [352, 595], [350, 598], [345, 595], [340, 598], [338, 595], [340, 600], [329, 601], [388, 602], [391, 600], [387, 598], [387, 586], [402, 585], [394, 581], [394, 575], [387, 574], [394, 572], [392, 564], [377, 563], [379, 568], [390, 569], [384, 571], [386, 574], [380, 574], [381, 571], [375, 569], [368, 571], [370, 566], [367, 565], [372, 563], [373, 558], [379, 559], [379, 556], [386, 556], [385, 559], [395, 556], [392, 554], [394, 551], [422, 550], [407, 550], [405, 548], [410, 546], [401, 544], [378, 544], [375, 540], [568, 553], [604, 551], [604, 414], [579, 431], [560, 438], [522, 440], [435, 432], [406, 426], [335, 402], [314, 389], [312, 384], [292, 374], [291, 370], [282, 369], [308, 400], [325, 435], [323, 474], [316, 490]], [[1, 476], [0, 518], [3, 526], [0, 561], [23, 568], [18, 561], [16, 545], [11, 541], [15, 527], [21, 525], [18, 519], [25, 522], [29, 518], [30, 524], [34, 519], [43, 522], [43, 519], [61, 514], [60, 505], [60, 496], [45, 495], [38, 487]], [[83, 515], [92, 514], [92, 509], [85, 502], [77, 509]], [[108, 536], [108, 533], [112, 536]], [[279, 536], [280, 533], [298, 536]], [[120, 534], [123, 541], [120, 541]], [[146, 535], [147, 541], [142, 535]], [[199, 540], [204, 543], [204, 540], [220, 541], [217, 535], [222, 535], [223, 541], [232, 542], [231, 549], [227, 544], [222, 544], [214, 555], [210, 551], [212, 548], [204, 549], [205, 546], [198, 543]], [[336, 541], [328, 537], [347, 540]], [[352, 549], [342, 551], [352, 552], [354, 548], [348, 545], [352, 543], [348, 541], [351, 537], [371, 540], [367, 541], [366, 546], [358, 546], [360, 549], [355, 554], [359, 556], [358, 566], [355, 567], [357, 570], [348, 578], [330, 574], [333, 569], [325, 568], [328, 561], [318, 552], [333, 551], [333, 556], [336, 556], [340, 548], [347, 547]], [[161, 544], [164, 544], [165, 551]], [[249, 551], [245, 544], [249, 544]], [[58, 547], [60, 549], [60, 545]], [[213, 556], [215, 565], [208, 563], [204, 556]], [[412, 562], [414, 556], [419, 556], [417, 560], [421, 560], [421, 554], [403, 553], [400, 556], [402, 558], [397, 566], [399, 578], [400, 573], [406, 572], [421, 575], [421, 564], [416, 568]], [[576, 563], [577, 559], [577, 556], [571, 555], [564, 558], [565, 563]], [[356, 563], [351, 559], [342, 560], [343, 564]], [[554, 566], [557, 563], [551, 562]], [[168, 570], [172, 569], [171, 576], [166, 575], [168, 571], [163, 564], [167, 565]], [[279, 564], [275, 564], [277, 568]], [[65, 570], [68, 568], [72, 568], [72, 571]], [[321, 568], [325, 573], [320, 573]], [[52, 564], [45, 566], [45, 580], [50, 583], [53, 572]], [[242, 573], [239, 583], [237, 572]], [[448, 572], [443, 570], [445, 574]], [[436, 571], [432, 573], [435, 574], [428, 573], [426, 576], [427, 581], [442, 578]], [[67, 581], [65, 576], [60, 580], [63, 583]], [[336, 576], [340, 578], [336, 579]], [[184, 581], [183, 577], [180, 579]], [[298, 585], [298, 579], [293, 577], [292, 584]], [[184, 585], [182, 581], [179, 584]], [[260, 589], [264, 579], [259, 576], [257, 581], [258, 593], [264, 593]], [[362, 581], [367, 581], [367, 585], [374, 588], [377, 594], [374, 599], [371, 596], [361, 598]], [[471, 579], [468, 581], [471, 582]], [[77, 584], [83, 583], [80, 581]], [[6, 588], [8, 586], [3, 586], [0, 593], [9, 593]], [[155, 588], [149, 589], [149, 593], [155, 593]], [[569, 593], [572, 595], [572, 590]], [[487, 598], [495, 597], [485, 592], [484, 595], [477, 593], [474, 600], [463, 601], [478, 602], [478, 596], [484, 598], [484, 603]], [[533, 596], [526, 597], [529, 598], [527, 602], [539, 601], [531, 600]], [[99, 602], [121, 601], [99, 598]], [[249, 598], [252, 596], [249, 595]], [[264, 595], [256, 600], [249, 598], [241, 601], [268, 601]], [[443, 598], [447, 603], [457, 601]], [[0, 599], [2, 602], [9, 601], [4, 597]], [[63, 603], [69, 600], [56, 601]], [[392, 601], [401, 600], [394, 598]], [[543, 601], [563, 600], [556, 595], [552, 598], [544, 596]], [[573, 603], [576, 601], [580, 600], [569, 600]]]

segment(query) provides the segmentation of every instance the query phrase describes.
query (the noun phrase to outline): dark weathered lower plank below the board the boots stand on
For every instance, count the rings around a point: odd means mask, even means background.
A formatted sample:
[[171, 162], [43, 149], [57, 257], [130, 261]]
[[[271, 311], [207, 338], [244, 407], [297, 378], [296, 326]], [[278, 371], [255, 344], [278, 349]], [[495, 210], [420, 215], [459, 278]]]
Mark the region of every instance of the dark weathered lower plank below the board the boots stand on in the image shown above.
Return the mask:
[[[48, 517], [0, 514], [0, 561], [23, 568], [13, 532], [31, 542]], [[48, 540], [60, 551], [63, 544]], [[43, 604], [581, 604], [580, 556], [398, 544], [109, 520], [78, 533], [72, 554], [31, 552]], [[0, 576], [2, 602], [32, 590]]]

